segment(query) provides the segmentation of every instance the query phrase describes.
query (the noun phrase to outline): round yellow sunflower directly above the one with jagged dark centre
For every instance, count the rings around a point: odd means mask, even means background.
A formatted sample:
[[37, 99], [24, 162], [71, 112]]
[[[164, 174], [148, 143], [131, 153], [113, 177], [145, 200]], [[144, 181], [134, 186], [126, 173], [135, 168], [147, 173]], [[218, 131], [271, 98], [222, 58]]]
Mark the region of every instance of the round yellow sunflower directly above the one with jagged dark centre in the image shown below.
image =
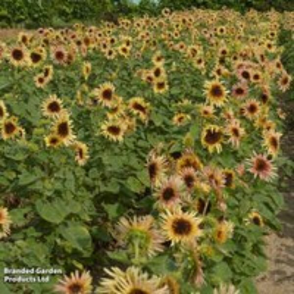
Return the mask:
[[210, 104], [222, 106], [226, 102], [226, 90], [220, 81], [206, 81], [204, 88], [206, 99]]

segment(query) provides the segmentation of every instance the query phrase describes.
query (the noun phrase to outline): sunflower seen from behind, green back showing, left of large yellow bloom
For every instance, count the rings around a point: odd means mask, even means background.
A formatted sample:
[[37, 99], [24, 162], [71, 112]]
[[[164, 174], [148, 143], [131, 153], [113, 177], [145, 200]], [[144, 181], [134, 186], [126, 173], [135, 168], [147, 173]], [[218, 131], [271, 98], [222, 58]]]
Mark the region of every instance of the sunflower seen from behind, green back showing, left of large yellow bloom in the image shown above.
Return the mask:
[[137, 244], [140, 255], [152, 257], [164, 250], [164, 238], [155, 228], [155, 220], [152, 216], [122, 217], [115, 226], [113, 237], [120, 246]]

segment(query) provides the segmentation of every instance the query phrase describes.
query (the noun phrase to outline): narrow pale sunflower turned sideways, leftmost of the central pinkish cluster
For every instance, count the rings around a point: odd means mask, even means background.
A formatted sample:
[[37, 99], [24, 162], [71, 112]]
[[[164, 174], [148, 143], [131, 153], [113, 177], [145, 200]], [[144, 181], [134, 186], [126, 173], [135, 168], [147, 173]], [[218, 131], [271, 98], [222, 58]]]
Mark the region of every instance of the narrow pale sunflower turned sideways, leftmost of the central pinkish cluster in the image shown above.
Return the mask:
[[152, 186], [158, 186], [168, 170], [168, 161], [164, 156], [156, 155], [154, 151], [149, 153], [147, 170]]

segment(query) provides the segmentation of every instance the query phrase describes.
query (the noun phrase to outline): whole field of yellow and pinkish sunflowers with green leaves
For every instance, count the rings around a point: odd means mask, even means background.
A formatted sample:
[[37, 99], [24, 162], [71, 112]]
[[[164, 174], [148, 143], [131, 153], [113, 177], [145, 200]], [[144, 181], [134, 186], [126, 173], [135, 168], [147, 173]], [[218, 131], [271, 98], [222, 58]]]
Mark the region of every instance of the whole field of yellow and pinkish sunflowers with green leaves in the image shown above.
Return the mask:
[[0, 43], [0, 293], [257, 293], [293, 31], [165, 8]]

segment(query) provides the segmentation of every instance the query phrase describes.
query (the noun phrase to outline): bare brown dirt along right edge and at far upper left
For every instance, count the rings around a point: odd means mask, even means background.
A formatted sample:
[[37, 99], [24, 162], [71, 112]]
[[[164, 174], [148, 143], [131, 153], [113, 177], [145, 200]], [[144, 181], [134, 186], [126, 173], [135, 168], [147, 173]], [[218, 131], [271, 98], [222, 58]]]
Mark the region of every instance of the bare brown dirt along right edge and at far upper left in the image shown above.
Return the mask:
[[[20, 29], [0, 29], [0, 41], [17, 38]], [[294, 102], [285, 106], [288, 117], [294, 113]], [[288, 130], [283, 136], [283, 149], [294, 160], [294, 119], [288, 123]], [[279, 214], [283, 229], [266, 238], [268, 271], [257, 277], [256, 286], [259, 294], [294, 294], [294, 178], [289, 180], [289, 187], [283, 193], [285, 209]]]

